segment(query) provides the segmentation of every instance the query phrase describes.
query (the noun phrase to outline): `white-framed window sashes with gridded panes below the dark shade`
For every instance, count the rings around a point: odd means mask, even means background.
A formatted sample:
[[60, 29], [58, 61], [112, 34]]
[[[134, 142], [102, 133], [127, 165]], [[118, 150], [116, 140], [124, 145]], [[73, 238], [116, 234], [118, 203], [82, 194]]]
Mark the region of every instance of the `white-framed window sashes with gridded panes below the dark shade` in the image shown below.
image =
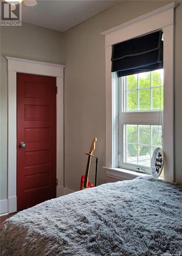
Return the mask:
[[163, 69], [119, 78], [121, 168], [150, 173], [153, 151], [162, 147], [163, 81]]

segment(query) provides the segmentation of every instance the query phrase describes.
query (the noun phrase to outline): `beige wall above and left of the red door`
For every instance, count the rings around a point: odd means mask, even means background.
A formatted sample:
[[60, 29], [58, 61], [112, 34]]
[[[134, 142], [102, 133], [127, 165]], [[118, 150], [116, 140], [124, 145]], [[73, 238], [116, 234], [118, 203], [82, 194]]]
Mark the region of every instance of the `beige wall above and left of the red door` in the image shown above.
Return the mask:
[[63, 34], [27, 23], [1, 27], [0, 200], [7, 199], [7, 60], [4, 56], [63, 64]]

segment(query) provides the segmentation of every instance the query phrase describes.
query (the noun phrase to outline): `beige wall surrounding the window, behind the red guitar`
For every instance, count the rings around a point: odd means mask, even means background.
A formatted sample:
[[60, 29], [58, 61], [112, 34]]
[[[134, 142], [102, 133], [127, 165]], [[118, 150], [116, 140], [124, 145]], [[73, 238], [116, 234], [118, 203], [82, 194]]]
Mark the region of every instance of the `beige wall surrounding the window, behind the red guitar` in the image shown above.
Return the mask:
[[[100, 32], [165, 6], [172, 1], [123, 1], [86, 20], [64, 34], [65, 69], [65, 186], [79, 189], [85, 172], [93, 136], [98, 141], [95, 155], [99, 158], [98, 182], [113, 181], [106, 177], [105, 165], [106, 108], [105, 108], [105, 38]], [[176, 124], [176, 181], [182, 183], [180, 145], [182, 144], [181, 59], [182, 4], [176, 9], [175, 61], [175, 124]], [[94, 169], [90, 171], [94, 180]]]

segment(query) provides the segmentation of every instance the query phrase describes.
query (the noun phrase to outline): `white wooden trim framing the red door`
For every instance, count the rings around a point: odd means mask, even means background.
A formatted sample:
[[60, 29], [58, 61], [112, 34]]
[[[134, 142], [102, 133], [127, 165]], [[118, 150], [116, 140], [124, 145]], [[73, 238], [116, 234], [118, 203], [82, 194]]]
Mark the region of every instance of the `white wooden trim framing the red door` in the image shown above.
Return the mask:
[[64, 195], [64, 65], [5, 57], [8, 61], [8, 212], [17, 210], [16, 198], [16, 73], [56, 77], [57, 108], [57, 197]]

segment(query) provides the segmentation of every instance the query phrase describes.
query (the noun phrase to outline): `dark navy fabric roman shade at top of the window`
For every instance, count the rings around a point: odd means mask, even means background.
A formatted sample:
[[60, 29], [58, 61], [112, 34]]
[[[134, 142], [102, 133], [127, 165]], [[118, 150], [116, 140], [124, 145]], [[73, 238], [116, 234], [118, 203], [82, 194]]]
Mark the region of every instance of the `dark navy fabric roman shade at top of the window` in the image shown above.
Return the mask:
[[162, 69], [162, 35], [161, 30], [113, 45], [112, 72], [121, 77]]

